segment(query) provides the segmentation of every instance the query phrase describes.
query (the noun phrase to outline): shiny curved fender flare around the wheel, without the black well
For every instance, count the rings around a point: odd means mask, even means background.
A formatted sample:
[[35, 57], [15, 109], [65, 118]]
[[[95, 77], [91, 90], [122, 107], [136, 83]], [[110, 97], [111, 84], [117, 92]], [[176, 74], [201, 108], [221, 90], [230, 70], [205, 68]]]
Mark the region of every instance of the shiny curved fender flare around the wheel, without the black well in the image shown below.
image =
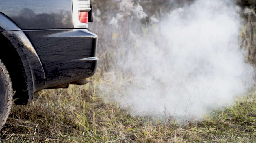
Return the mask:
[[45, 73], [42, 63], [27, 36], [2, 13], [0, 13], [0, 33], [8, 39], [11, 45], [11, 47], [0, 47], [0, 51], [3, 51], [2, 48], [14, 48], [21, 58], [27, 79], [27, 91], [24, 93], [28, 93], [28, 95], [19, 95], [15, 103], [25, 105], [33, 99], [35, 92], [45, 88]]

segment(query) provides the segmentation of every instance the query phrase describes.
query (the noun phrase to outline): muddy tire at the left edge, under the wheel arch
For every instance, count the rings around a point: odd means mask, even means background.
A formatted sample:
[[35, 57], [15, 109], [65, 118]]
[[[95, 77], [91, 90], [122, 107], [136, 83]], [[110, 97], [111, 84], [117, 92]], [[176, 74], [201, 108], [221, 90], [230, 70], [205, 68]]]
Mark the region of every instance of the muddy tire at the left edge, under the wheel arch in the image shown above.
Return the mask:
[[10, 75], [0, 59], [0, 130], [3, 128], [12, 108], [12, 82]]

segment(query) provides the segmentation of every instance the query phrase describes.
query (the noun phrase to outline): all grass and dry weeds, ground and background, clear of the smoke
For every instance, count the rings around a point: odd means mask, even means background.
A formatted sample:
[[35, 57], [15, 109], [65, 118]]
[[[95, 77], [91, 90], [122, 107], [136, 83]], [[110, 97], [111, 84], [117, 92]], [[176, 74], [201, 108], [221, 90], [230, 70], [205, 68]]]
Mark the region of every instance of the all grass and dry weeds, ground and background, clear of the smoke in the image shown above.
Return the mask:
[[[184, 1], [141, 0], [140, 5], [148, 17], [136, 21], [140, 24], [133, 27], [134, 32], [154, 24], [151, 17], [161, 20], [174, 4], [182, 5]], [[231, 107], [213, 110], [203, 121], [186, 121], [183, 124], [172, 117], [157, 121], [151, 117], [137, 117], [114, 102], [106, 103], [98, 91], [99, 85], [109, 82], [104, 75], [116, 64], [115, 50], [123, 46], [118, 43], [127, 40], [129, 23], [134, 21], [128, 13], [124, 17], [125, 22], [120, 23], [128, 23], [122, 25], [122, 31], [104, 30], [115, 17], [114, 13], [125, 11], [119, 9], [119, 1], [94, 0], [93, 3], [95, 22], [90, 26], [99, 35], [98, 56], [101, 59], [96, 75], [87, 85], [43, 90], [29, 105], [13, 105], [0, 134], [1, 142], [256, 142], [255, 90], [238, 98]], [[241, 13], [244, 16], [241, 47], [248, 51], [248, 61], [255, 63], [255, 4], [253, 1], [238, 1], [238, 4], [244, 10], [249, 8], [247, 13]]]

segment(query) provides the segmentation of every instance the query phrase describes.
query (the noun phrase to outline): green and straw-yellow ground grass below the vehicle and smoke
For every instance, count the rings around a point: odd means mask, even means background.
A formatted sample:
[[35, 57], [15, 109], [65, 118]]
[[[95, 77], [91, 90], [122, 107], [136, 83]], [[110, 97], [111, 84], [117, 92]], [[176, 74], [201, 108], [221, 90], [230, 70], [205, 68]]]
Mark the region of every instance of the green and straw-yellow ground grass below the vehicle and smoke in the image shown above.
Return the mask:
[[43, 90], [26, 106], [14, 105], [1, 142], [256, 142], [256, 93], [202, 121], [134, 117], [129, 109], [105, 103], [97, 74], [85, 86]]

